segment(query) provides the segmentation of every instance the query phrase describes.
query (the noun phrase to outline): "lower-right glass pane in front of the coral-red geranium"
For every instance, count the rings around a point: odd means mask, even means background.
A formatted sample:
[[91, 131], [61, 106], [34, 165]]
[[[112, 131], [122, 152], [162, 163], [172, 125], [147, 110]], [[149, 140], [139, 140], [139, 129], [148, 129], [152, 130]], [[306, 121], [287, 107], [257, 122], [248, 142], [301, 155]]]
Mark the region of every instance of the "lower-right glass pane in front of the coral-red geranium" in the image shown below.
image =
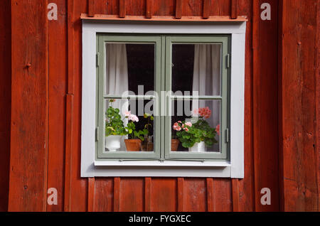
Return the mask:
[[171, 151], [220, 151], [220, 100], [173, 100], [171, 114]]

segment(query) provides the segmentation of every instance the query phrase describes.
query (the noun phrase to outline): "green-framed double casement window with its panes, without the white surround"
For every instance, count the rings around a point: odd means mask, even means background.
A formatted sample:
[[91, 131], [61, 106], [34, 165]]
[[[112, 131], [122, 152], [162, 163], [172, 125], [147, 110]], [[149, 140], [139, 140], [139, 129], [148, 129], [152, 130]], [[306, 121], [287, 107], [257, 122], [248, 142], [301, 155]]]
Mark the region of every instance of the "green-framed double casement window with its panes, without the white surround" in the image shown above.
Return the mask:
[[229, 39], [98, 34], [97, 161], [227, 159]]

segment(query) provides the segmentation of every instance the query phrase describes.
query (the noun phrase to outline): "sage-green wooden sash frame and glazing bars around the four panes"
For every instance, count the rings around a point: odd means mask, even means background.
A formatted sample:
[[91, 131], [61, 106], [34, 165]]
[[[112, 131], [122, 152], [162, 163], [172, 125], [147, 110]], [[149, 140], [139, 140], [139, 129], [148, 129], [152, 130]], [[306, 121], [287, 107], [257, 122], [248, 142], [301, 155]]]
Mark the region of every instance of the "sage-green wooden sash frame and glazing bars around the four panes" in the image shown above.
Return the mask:
[[[99, 36], [99, 45], [98, 52], [100, 53], [100, 62], [105, 60], [106, 53], [101, 55], [101, 46], [107, 46], [112, 43], [126, 43], [127, 45], [131, 45], [133, 48], [138, 45], [142, 45], [142, 43], [146, 45], [152, 45], [154, 43], [156, 45], [156, 53], [155, 55], [155, 64], [154, 64], [154, 89], [158, 92], [158, 100], [159, 102], [156, 103], [159, 108], [165, 106], [166, 107], [166, 116], [161, 117], [154, 117], [154, 132], [157, 132], [157, 135], [154, 135], [154, 151], [152, 153], [150, 151], [112, 151], [108, 152], [105, 151], [105, 144], [101, 141], [99, 142], [98, 154], [97, 158], [112, 158], [112, 159], [122, 159], [128, 158], [128, 160], [132, 159], [142, 159], [142, 158], [149, 158], [149, 159], [200, 159], [202, 160], [217, 160], [217, 159], [226, 159], [228, 158], [228, 68], [227, 68], [227, 55], [229, 53], [229, 37], [228, 36], [215, 36], [215, 37], [207, 37], [207, 36], [193, 36], [193, 37], [186, 37], [186, 36]], [[156, 39], [156, 40], [155, 40]], [[219, 71], [218, 77], [215, 79], [215, 84], [218, 84], [215, 89], [210, 90], [210, 92], [204, 93], [204, 95], [194, 95], [194, 89], [184, 88], [181, 89], [182, 95], [176, 95], [179, 89], [178, 84], [176, 85], [175, 82], [177, 81], [177, 77], [174, 74], [174, 49], [176, 48], [183, 48], [184, 46], [195, 46], [195, 45], [206, 45], [208, 48], [215, 48], [215, 51], [220, 51], [220, 58], [215, 60], [215, 67], [216, 70]], [[103, 52], [104, 50], [102, 50]], [[178, 51], [176, 51], [178, 52]], [[166, 54], [164, 54], [166, 53]], [[178, 56], [178, 55], [177, 55]], [[178, 58], [178, 57], [177, 57]], [[129, 60], [128, 60], [129, 61]], [[189, 62], [192, 60], [189, 59]], [[218, 61], [218, 62], [217, 62]], [[175, 61], [176, 62], [176, 61]], [[180, 62], [181, 63], [181, 62]], [[183, 60], [182, 60], [183, 63]], [[102, 74], [105, 73], [101, 71], [101, 67], [99, 68], [99, 78]], [[192, 74], [192, 72], [191, 72]], [[190, 75], [189, 75], [190, 76]], [[150, 78], [150, 76], [148, 77]], [[102, 77], [102, 80], [105, 80], [105, 76]], [[101, 78], [100, 78], [101, 81]], [[99, 87], [101, 87], [100, 81], [98, 81]], [[218, 81], [218, 82], [217, 82]], [[150, 86], [150, 80], [144, 80], [146, 85]], [[103, 83], [105, 84], [105, 83]], [[162, 89], [161, 89], [162, 87]], [[172, 88], [172, 89], [171, 89]], [[134, 88], [133, 88], [134, 89]], [[132, 89], [132, 90], [133, 90]], [[192, 90], [193, 89], [193, 90]], [[112, 93], [106, 93], [105, 89], [102, 88], [103, 93], [105, 94], [103, 97], [104, 99], [121, 99], [123, 95], [114, 95]], [[132, 91], [131, 90], [131, 91]], [[163, 98], [160, 95], [160, 91], [164, 90], [166, 93], [170, 94], [170, 91], [174, 91], [173, 95], [166, 95], [166, 98]], [[150, 88], [147, 88], [147, 91], [150, 91]], [[184, 95], [185, 91], [189, 91], [190, 95]], [[199, 90], [197, 90], [199, 91]], [[201, 90], [200, 90], [201, 91]], [[101, 94], [100, 94], [101, 95]], [[128, 95], [125, 98], [131, 100], [137, 99], [152, 99], [156, 95]], [[187, 152], [186, 149], [179, 149], [178, 151], [171, 151], [171, 134], [172, 134], [172, 124], [174, 119], [171, 119], [171, 103], [177, 101], [178, 99], [185, 99], [190, 102], [198, 102], [199, 106], [206, 102], [215, 103], [213, 105], [218, 106], [218, 109], [214, 109], [218, 111], [218, 122], [220, 123], [220, 136], [217, 136], [218, 144], [215, 144], [212, 149], [207, 149], [203, 153], [193, 153]], [[218, 103], [218, 104], [217, 104]], [[103, 111], [106, 109], [107, 104], [99, 104], [99, 106], [104, 106]], [[100, 106], [100, 107], [101, 107]], [[192, 106], [192, 104], [191, 104]], [[102, 109], [98, 110], [98, 114], [103, 114]], [[170, 112], [170, 113], [169, 113]], [[102, 117], [99, 117], [99, 119]], [[100, 119], [100, 122], [97, 124], [104, 123], [105, 119]], [[102, 126], [103, 129], [103, 126]], [[103, 139], [105, 136], [104, 131], [100, 128], [100, 138]]]

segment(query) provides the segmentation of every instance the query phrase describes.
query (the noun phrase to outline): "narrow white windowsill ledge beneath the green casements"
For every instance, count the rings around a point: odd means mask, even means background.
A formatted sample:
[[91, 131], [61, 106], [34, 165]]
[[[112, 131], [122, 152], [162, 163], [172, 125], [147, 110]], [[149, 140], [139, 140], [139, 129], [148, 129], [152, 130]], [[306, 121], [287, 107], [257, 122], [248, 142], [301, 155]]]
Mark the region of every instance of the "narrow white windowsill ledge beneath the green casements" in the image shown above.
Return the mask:
[[228, 167], [231, 166], [230, 161], [95, 161], [95, 166], [163, 166], [163, 167]]

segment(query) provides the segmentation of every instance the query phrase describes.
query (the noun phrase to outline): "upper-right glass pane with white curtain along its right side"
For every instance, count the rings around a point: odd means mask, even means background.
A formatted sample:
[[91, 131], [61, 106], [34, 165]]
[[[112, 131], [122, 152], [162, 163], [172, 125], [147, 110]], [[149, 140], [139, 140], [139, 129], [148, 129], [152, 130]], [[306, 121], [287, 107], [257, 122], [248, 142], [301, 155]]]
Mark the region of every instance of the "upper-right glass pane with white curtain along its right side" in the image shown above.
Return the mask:
[[220, 95], [221, 44], [173, 44], [175, 95]]

